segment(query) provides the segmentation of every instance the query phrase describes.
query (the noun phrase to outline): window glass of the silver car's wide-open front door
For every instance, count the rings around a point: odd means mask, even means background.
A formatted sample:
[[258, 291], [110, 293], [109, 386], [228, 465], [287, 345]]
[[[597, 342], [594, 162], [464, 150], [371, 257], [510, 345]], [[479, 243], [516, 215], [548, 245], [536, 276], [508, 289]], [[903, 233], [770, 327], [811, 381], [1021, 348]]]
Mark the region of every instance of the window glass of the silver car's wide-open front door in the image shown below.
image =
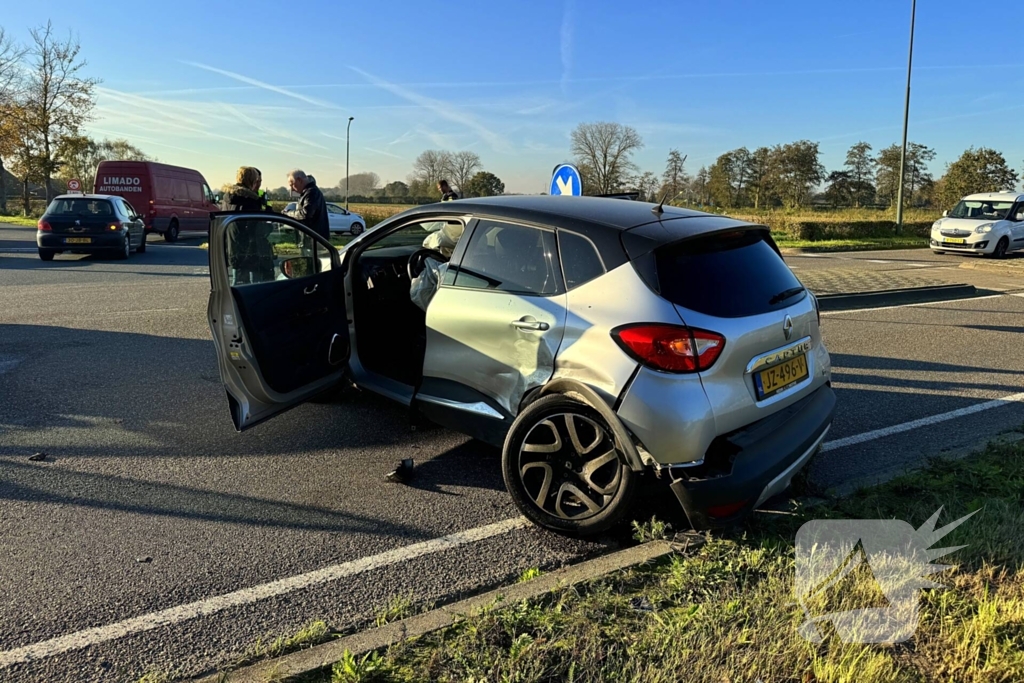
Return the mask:
[[236, 220], [224, 239], [231, 287], [299, 280], [331, 269], [328, 250], [287, 223]]

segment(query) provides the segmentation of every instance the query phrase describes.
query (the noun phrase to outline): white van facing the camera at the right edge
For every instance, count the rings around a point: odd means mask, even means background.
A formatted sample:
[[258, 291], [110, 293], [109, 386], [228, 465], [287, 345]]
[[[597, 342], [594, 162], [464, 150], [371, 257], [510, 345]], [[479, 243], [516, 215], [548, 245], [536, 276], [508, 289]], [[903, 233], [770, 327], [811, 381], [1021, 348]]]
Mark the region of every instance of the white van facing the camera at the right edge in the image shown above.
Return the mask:
[[1024, 195], [968, 195], [932, 225], [932, 251], [1002, 258], [1024, 249]]

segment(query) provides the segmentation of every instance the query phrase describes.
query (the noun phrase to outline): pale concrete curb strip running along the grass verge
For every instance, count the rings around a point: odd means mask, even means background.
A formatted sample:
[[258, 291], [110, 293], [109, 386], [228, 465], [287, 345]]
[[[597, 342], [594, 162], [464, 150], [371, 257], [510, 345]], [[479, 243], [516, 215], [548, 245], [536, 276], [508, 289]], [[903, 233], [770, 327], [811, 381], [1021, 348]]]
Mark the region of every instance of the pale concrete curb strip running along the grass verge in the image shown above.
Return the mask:
[[400, 622], [338, 638], [233, 672], [221, 672], [191, 680], [195, 683], [265, 683], [267, 680], [285, 680], [301, 676], [332, 666], [342, 658], [346, 650], [356, 656], [366, 654], [444, 629], [460, 617], [495, 603], [511, 605], [537, 598], [565, 586], [593, 581], [612, 571], [657, 560], [672, 553], [686, 552], [701, 546], [703, 541], [705, 537], [697, 533], [680, 533], [673, 541], [645, 543], [549, 573], [542, 573], [528, 582], [504, 586]]

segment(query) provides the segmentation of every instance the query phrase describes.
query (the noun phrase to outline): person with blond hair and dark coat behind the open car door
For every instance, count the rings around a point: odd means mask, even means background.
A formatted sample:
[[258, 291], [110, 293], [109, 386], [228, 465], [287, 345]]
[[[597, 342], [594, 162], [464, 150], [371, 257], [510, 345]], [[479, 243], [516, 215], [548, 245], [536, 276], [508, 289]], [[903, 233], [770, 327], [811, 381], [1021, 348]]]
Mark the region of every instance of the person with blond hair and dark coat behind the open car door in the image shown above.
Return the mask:
[[[265, 213], [267, 208], [257, 193], [259, 180], [257, 169], [240, 168], [237, 182], [224, 193], [220, 208], [239, 213]], [[269, 223], [255, 220], [234, 221], [227, 226], [227, 262], [234, 275], [233, 285], [268, 283], [274, 279], [271, 229]]]

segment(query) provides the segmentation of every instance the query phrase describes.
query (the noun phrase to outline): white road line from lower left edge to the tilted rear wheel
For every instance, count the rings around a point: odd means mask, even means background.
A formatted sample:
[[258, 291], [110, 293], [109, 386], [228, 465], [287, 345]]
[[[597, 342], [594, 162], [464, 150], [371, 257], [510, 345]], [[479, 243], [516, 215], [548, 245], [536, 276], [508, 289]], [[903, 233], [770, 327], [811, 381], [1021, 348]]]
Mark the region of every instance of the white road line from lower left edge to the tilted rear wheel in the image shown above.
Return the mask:
[[323, 569], [316, 569], [297, 577], [289, 577], [272, 581], [268, 584], [244, 588], [241, 591], [198, 600], [186, 605], [169, 607], [160, 611], [142, 614], [116, 624], [109, 624], [93, 629], [85, 629], [66, 636], [59, 636], [40, 643], [26, 645], [13, 650], [0, 652], [0, 669], [16, 664], [25, 664], [35, 659], [80, 650], [90, 645], [98, 645], [118, 638], [124, 638], [144, 631], [161, 629], [174, 624], [180, 624], [200, 616], [209, 616], [230, 607], [248, 605], [266, 598], [293, 593], [295, 591], [338, 581], [357, 573], [378, 569], [390, 564], [397, 564], [416, 557], [438, 553], [477, 541], [483, 541], [517, 528], [527, 526], [529, 522], [524, 517], [513, 517], [486, 526], [478, 526], [458, 533], [415, 543], [403, 548], [389, 550], [379, 555], [371, 555], [351, 562], [333, 564]]

